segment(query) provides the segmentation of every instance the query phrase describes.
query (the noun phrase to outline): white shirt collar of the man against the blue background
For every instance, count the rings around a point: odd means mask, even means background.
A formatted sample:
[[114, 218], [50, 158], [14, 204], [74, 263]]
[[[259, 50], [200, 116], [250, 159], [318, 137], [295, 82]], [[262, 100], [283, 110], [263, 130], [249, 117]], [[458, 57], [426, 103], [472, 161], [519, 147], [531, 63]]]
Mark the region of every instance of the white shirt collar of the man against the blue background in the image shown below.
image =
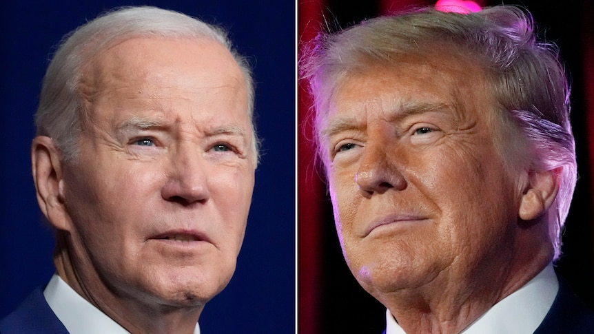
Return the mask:
[[[81, 297], [59, 275], [43, 291], [45, 300], [71, 334], [130, 334], [112, 318]], [[200, 334], [196, 323], [194, 334]]]

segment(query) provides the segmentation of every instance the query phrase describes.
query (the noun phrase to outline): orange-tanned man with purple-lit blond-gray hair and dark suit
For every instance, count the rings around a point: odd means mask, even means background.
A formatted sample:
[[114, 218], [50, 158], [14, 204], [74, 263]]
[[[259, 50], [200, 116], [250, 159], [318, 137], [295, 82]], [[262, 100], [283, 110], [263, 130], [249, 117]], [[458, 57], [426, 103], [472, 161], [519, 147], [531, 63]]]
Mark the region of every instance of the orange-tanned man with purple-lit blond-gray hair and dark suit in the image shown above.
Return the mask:
[[425, 8], [302, 59], [338, 238], [387, 334], [593, 333], [557, 280], [576, 182], [569, 87], [529, 15]]

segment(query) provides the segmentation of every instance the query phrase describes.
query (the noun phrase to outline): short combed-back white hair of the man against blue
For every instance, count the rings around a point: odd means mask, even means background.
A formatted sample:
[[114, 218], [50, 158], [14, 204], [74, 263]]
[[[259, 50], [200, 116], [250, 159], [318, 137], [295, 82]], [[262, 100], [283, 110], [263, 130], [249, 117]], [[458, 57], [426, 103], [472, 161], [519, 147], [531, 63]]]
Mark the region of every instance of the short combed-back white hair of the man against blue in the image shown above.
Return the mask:
[[84, 105], [79, 83], [93, 56], [135, 37], [209, 39], [221, 43], [238, 63], [247, 87], [247, 112], [252, 123], [252, 150], [258, 164], [259, 141], [254, 125], [254, 83], [247, 59], [232, 47], [227, 33], [180, 12], [156, 7], [123, 7], [107, 12], [66, 34], [48, 66], [35, 114], [37, 136], [49, 136], [68, 161], [78, 154]]

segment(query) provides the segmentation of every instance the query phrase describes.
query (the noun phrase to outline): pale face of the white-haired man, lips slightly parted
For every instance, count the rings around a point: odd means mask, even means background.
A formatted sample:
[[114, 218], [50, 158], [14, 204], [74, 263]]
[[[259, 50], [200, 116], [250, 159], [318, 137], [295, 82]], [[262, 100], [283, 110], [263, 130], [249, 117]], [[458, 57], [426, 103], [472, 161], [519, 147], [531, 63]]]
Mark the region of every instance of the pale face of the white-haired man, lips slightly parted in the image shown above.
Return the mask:
[[218, 43], [158, 38], [91, 64], [63, 172], [76, 274], [91, 294], [201, 305], [234, 273], [254, 187], [240, 69]]

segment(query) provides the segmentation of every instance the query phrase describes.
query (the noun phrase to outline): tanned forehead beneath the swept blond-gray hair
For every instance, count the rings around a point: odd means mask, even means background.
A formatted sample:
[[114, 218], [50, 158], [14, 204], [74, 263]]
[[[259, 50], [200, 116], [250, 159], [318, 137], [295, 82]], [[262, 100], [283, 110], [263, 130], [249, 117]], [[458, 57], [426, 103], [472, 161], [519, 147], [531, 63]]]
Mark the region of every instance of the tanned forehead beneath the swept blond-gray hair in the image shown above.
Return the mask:
[[[495, 135], [493, 115], [498, 113], [498, 103], [488, 88], [487, 71], [467, 57], [437, 52], [403, 54], [390, 61], [361, 61], [336, 74], [316, 101], [316, 138], [324, 161], [327, 134], [342, 127], [341, 123], [365, 117], [363, 114], [373, 108], [388, 114], [449, 110], [454, 119], [484, 119]], [[357, 122], [365, 123], [362, 119]]]

